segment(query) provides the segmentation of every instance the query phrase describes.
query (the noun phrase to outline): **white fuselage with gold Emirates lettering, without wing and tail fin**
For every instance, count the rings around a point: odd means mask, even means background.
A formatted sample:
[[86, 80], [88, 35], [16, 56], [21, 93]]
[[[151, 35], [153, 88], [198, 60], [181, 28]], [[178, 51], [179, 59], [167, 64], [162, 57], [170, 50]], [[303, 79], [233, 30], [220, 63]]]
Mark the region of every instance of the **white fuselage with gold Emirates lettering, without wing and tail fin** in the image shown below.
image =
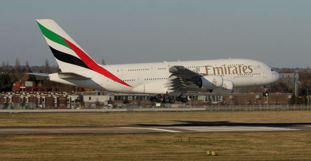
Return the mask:
[[[174, 65], [184, 66], [187, 69], [206, 75], [219, 75], [224, 80], [232, 81], [233, 87], [261, 86], [275, 83], [279, 80], [279, 74], [269, 65], [248, 59], [220, 59], [183, 62], [141, 63], [141, 64], [116, 64], [103, 65], [103, 67], [115, 76], [126, 82], [126, 86], [90, 69], [78, 69], [71, 71], [91, 78], [86, 81], [63, 80], [57, 77], [57, 73], [50, 74], [50, 80], [70, 85], [104, 90], [118, 93], [135, 92], [135, 88], [148, 85], [154, 88], [154, 92], [148, 94], [165, 94], [167, 88], [163, 86], [171, 73], [169, 68]], [[197, 89], [200, 91], [200, 89]], [[146, 93], [146, 92], [143, 92]]]

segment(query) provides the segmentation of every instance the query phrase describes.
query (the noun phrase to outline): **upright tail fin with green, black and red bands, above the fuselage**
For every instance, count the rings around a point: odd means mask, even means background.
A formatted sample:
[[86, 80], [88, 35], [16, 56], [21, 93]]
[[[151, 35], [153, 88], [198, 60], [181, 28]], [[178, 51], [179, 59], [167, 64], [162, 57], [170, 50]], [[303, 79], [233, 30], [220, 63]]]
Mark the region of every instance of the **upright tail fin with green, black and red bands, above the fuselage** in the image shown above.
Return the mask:
[[81, 68], [90, 69], [96, 65], [95, 61], [55, 21], [52, 19], [36, 21], [63, 72]]

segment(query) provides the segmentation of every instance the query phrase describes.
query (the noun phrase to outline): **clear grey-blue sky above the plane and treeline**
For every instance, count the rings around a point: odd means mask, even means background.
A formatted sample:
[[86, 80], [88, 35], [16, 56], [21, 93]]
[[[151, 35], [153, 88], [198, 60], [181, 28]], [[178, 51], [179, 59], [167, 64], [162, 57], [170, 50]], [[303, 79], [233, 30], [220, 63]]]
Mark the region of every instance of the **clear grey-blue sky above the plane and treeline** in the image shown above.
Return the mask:
[[245, 58], [311, 63], [311, 0], [1, 0], [0, 63], [56, 65], [35, 19], [53, 19], [97, 63]]

